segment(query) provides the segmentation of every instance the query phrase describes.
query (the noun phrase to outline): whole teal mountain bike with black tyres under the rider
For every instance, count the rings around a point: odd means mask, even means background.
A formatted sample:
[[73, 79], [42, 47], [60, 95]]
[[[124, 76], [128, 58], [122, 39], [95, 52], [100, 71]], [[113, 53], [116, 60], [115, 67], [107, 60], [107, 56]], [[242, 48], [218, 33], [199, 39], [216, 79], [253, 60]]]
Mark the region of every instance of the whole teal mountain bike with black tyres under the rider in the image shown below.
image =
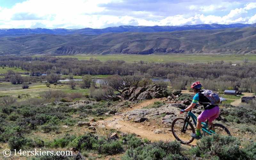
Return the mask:
[[[182, 112], [181, 112], [182, 113]], [[189, 120], [191, 117], [192, 120]], [[194, 115], [191, 110], [188, 111], [186, 118], [178, 117], [175, 118], [172, 122], [172, 134], [173, 136], [180, 141], [182, 144], [189, 144], [194, 141], [194, 138], [190, 136], [190, 133], [196, 133], [194, 126], [191, 122], [194, 122], [196, 126], [197, 117]], [[228, 129], [222, 124], [212, 124], [208, 127], [208, 119], [206, 122], [202, 122], [202, 133], [200, 132], [200, 137], [202, 136], [211, 136], [212, 134], [226, 135], [231, 136]]]

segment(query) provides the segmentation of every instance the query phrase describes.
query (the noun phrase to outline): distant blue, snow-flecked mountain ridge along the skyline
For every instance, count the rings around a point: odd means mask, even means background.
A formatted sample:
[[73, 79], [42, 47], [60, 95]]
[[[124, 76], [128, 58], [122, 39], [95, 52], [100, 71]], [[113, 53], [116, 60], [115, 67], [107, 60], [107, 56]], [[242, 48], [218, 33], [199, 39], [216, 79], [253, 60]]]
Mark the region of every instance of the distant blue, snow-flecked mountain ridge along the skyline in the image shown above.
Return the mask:
[[103, 33], [121, 33], [121, 32], [170, 32], [170, 31], [184, 31], [184, 30], [213, 30], [223, 28], [242, 28], [250, 27], [251, 24], [197, 24], [197, 25], [183, 25], [183, 26], [132, 26], [122, 25], [117, 27], [108, 27], [103, 29], [45, 29], [45, 28], [21, 28], [21, 29], [0, 29], [0, 37], [19, 37], [33, 34], [86, 34], [99, 35]]

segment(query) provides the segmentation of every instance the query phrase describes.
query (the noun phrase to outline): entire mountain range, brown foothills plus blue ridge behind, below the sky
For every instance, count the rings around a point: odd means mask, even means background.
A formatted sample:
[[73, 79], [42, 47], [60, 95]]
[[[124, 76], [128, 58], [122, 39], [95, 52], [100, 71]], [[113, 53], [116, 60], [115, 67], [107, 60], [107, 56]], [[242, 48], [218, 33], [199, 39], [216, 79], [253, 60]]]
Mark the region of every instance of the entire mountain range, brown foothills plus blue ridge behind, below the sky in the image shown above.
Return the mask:
[[256, 54], [255, 34], [255, 24], [1, 29], [0, 54]]

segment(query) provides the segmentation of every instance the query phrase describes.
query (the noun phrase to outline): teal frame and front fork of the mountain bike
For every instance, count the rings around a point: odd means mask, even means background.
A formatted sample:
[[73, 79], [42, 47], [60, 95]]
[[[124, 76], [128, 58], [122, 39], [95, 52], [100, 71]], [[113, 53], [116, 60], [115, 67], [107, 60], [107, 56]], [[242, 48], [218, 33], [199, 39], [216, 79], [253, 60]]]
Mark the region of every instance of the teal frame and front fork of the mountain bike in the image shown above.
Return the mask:
[[[188, 115], [186, 116], [185, 120], [184, 120], [184, 125], [183, 125], [183, 128], [181, 130], [182, 133], [186, 133], [186, 130], [188, 128], [188, 121], [189, 119], [192, 119], [192, 121], [194, 122], [194, 124], [196, 125], [197, 123], [197, 117], [191, 112], [191, 110], [188, 112]], [[208, 126], [208, 119], [207, 121], [204, 123], [204, 122], [201, 122], [202, 123], [202, 131], [203, 131], [203, 135], [205, 136], [205, 133], [208, 133], [209, 135], [212, 135], [213, 134], [216, 134], [215, 132], [213, 132], [212, 130], [210, 130], [210, 132], [208, 132], [208, 129], [207, 129], [207, 126]], [[202, 138], [203, 136], [200, 132], [200, 137]]]

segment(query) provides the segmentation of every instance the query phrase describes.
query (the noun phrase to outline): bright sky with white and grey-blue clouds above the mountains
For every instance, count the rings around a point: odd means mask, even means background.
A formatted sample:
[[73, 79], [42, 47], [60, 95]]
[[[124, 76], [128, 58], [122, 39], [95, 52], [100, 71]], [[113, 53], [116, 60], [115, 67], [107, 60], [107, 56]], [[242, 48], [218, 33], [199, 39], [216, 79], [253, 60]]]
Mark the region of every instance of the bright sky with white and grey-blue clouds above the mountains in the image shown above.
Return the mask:
[[254, 1], [0, 0], [0, 28], [254, 24]]

